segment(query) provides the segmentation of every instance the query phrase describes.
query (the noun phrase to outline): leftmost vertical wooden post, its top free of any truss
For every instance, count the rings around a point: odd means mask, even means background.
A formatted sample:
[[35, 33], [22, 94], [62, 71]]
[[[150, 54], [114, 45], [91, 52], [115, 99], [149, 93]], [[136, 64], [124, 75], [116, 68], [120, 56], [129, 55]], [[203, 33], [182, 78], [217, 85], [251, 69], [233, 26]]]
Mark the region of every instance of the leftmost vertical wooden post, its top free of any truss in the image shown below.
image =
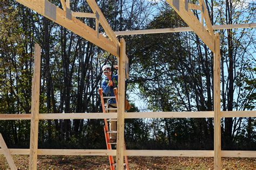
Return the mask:
[[39, 114], [39, 89], [41, 68], [41, 47], [35, 44], [34, 74], [32, 79], [31, 97], [31, 128], [30, 128], [30, 161], [29, 169], [37, 169], [38, 146], [38, 114]]

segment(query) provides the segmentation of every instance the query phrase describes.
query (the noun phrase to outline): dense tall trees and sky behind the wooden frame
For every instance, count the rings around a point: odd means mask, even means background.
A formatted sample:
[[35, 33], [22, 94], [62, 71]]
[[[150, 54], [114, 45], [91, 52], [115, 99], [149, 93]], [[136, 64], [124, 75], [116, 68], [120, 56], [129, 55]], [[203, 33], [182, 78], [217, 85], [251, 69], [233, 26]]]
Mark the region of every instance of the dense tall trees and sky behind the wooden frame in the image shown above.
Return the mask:
[[[51, 2], [61, 8], [60, 1]], [[97, 2], [113, 31], [187, 26], [165, 1]], [[205, 2], [212, 25], [255, 23], [254, 1]], [[91, 12], [81, 0], [71, 0], [71, 10]], [[200, 19], [200, 13], [194, 13]], [[80, 20], [95, 27], [93, 19]], [[255, 110], [255, 29], [215, 32], [220, 33], [221, 44], [221, 110]], [[213, 53], [195, 33], [124, 38], [130, 111], [213, 110]], [[2, 0], [0, 113], [30, 113], [35, 43], [42, 47], [39, 112], [102, 112], [97, 91], [101, 68], [117, 59], [16, 1]], [[103, 123], [39, 121], [38, 147], [105, 148]], [[221, 119], [222, 149], [255, 150], [255, 126], [251, 117]], [[0, 133], [8, 147], [29, 148], [30, 121], [0, 121]], [[125, 140], [129, 149], [213, 150], [213, 118], [125, 119]]]

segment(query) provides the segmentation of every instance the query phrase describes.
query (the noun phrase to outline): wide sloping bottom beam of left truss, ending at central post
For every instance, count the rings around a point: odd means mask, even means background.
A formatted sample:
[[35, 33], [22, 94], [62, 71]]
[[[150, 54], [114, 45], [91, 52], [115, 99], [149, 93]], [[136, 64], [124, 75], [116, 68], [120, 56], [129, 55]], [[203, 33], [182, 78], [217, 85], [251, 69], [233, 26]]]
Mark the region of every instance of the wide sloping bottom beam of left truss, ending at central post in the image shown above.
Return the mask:
[[[45, 15], [44, 0], [34, 0], [34, 1], [17, 0], [17, 2], [40, 13], [42, 16], [51, 19], [53, 22], [56, 22], [57, 24], [77, 34], [78, 36], [83, 37], [84, 39], [92, 42], [92, 44], [99, 46], [100, 48], [113, 54], [114, 56], [119, 57], [119, 46], [117, 44], [114, 44], [114, 42], [102, 36], [102, 34], [99, 34], [99, 37], [98, 37], [97, 32], [95, 30], [93, 30], [91, 27], [87, 26], [86, 24], [82, 23], [80, 20], [76, 19], [75, 17], [72, 17], [71, 20], [66, 18], [66, 12], [58, 8], [57, 6], [56, 6], [56, 19], [53, 19]], [[66, 1], [67, 8], [69, 8], [68, 2], [69, 1]]]

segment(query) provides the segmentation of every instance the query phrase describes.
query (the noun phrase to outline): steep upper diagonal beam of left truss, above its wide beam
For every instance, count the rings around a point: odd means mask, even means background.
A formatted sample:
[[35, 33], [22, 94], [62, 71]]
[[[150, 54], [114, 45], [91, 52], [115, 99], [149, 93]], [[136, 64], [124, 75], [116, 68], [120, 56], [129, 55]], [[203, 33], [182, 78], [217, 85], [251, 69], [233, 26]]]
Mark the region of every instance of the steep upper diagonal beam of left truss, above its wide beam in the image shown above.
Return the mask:
[[[106, 18], [104, 17], [102, 11], [99, 9], [99, 6], [95, 2], [95, 0], [87, 0], [87, 3], [91, 7], [94, 13], [98, 13], [99, 15], [99, 23], [102, 25], [103, 29], [107, 33], [107, 36], [114, 42], [114, 45], [120, 47], [120, 42], [118, 41], [116, 34], [114, 34], [113, 30], [111, 29], [109, 23], [107, 22]], [[97, 14], [96, 14], [97, 15]]]

